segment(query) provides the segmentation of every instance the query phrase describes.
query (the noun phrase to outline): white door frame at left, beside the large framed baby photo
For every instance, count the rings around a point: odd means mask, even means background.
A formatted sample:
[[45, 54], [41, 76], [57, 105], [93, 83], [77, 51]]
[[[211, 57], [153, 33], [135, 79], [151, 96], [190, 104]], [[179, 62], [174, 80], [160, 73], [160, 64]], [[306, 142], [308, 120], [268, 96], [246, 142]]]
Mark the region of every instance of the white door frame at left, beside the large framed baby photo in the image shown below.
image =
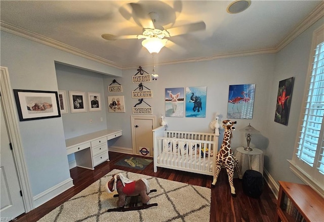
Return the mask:
[[34, 209], [33, 197], [30, 189], [29, 176], [26, 166], [26, 161], [21, 143], [21, 136], [19, 130], [19, 121], [16, 113], [16, 106], [14, 104], [13, 91], [9, 79], [9, 72], [7, 67], [0, 66], [1, 80], [0, 93], [4, 110], [4, 117], [7, 123], [9, 139], [13, 148], [14, 162], [17, 167], [18, 180], [22, 192], [22, 199], [24, 202], [25, 212]]

